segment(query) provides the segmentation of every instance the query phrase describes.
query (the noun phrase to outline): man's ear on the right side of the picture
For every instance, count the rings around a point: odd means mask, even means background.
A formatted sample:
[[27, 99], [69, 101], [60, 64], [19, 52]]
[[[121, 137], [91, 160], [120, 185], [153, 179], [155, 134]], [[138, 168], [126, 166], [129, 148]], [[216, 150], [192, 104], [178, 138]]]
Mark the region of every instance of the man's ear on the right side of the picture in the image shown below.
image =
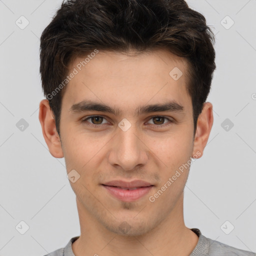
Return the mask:
[[193, 155], [198, 155], [196, 158], [200, 158], [203, 154], [203, 149], [208, 141], [212, 124], [212, 104], [210, 102], [205, 102], [202, 111], [198, 116], [196, 132], [194, 135]]

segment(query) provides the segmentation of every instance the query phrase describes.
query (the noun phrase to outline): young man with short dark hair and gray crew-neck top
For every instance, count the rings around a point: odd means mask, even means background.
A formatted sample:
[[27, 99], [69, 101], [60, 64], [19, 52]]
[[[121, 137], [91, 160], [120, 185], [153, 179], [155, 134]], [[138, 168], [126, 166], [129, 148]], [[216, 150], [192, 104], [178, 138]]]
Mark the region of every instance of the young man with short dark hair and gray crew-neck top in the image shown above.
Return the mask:
[[40, 40], [39, 120], [80, 221], [50, 255], [255, 255], [184, 224], [213, 123], [205, 18], [184, 0], [68, 0]]

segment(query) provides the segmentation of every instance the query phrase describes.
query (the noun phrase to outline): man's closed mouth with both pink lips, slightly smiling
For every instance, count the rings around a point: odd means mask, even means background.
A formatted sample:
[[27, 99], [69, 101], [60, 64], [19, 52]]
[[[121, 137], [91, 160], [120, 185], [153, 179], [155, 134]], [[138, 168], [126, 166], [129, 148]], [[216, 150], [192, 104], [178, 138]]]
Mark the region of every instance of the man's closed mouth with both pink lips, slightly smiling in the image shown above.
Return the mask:
[[126, 202], [131, 202], [142, 198], [154, 186], [141, 180], [134, 180], [131, 182], [115, 180], [101, 185], [111, 196]]

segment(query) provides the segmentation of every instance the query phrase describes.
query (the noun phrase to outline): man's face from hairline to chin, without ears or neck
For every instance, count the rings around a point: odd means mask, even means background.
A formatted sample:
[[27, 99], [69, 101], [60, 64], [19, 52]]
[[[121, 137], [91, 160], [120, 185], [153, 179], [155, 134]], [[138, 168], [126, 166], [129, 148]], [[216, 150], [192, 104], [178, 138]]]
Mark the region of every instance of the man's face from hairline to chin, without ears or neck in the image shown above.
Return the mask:
[[[178, 207], [190, 157], [202, 154], [193, 143], [186, 62], [164, 50], [137, 56], [99, 51], [79, 70], [83, 60], [70, 65], [78, 72], [60, 115], [61, 150], [67, 173], [75, 173], [70, 185], [79, 214], [115, 233], [124, 227], [129, 235], [143, 234]], [[169, 74], [173, 68], [183, 74]], [[149, 184], [134, 190], [104, 185], [113, 180]]]

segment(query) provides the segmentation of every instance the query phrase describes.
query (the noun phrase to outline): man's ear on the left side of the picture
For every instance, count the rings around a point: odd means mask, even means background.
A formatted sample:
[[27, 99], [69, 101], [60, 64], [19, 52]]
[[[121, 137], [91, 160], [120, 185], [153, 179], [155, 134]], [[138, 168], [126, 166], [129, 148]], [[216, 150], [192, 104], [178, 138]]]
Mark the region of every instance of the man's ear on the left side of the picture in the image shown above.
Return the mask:
[[42, 99], [40, 101], [38, 117], [42, 127], [42, 134], [50, 154], [56, 158], [62, 158], [63, 151], [60, 138], [56, 130], [55, 119], [50, 109], [48, 99]]

